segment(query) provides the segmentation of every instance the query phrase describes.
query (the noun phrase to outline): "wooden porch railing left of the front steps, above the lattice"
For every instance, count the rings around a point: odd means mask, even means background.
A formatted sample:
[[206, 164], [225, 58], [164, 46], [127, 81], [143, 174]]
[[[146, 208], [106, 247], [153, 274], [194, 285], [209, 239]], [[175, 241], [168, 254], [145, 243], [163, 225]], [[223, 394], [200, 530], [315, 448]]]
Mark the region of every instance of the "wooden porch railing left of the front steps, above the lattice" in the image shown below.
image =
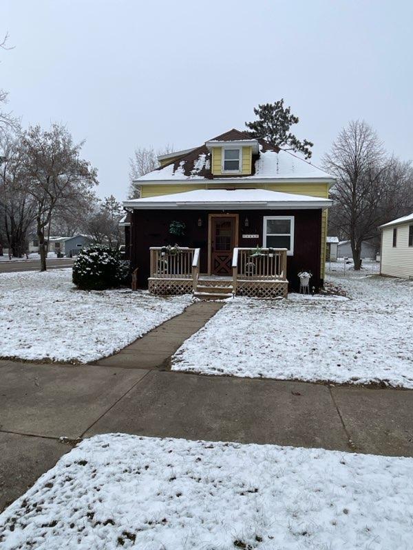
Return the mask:
[[[199, 272], [199, 248], [180, 246], [176, 254], [162, 252], [162, 247], [149, 248], [152, 278], [193, 278], [193, 262], [197, 258]], [[197, 252], [198, 251], [198, 252]]]

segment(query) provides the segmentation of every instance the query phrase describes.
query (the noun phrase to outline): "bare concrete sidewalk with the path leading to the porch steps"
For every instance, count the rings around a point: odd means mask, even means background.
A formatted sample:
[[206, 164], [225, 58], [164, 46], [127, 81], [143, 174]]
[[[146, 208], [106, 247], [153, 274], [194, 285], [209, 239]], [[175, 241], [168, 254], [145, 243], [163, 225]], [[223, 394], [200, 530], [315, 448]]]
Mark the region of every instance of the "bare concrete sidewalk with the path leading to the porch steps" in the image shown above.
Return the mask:
[[94, 365], [0, 361], [0, 510], [74, 440], [105, 432], [413, 456], [413, 391], [167, 370], [219, 307], [194, 304]]

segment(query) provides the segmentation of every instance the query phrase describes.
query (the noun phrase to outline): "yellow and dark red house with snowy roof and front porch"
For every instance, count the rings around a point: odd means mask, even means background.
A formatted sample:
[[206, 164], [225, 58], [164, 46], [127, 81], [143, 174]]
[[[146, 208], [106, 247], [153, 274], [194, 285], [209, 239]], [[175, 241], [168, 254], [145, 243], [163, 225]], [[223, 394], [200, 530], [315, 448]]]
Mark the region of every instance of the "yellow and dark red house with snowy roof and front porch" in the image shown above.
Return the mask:
[[323, 285], [332, 176], [235, 129], [158, 160], [135, 181], [140, 198], [124, 203], [138, 287], [286, 296], [302, 270]]

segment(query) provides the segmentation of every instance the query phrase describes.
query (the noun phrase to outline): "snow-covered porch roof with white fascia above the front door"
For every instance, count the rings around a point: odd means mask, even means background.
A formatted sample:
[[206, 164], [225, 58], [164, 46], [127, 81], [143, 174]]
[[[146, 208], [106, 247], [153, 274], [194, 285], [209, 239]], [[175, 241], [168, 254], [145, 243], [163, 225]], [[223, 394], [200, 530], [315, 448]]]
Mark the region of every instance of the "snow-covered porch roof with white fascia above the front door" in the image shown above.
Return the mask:
[[134, 210], [265, 210], [268, 208], [328, 208], [330, 199], [266, 189], [198, 189], [125, 201]]

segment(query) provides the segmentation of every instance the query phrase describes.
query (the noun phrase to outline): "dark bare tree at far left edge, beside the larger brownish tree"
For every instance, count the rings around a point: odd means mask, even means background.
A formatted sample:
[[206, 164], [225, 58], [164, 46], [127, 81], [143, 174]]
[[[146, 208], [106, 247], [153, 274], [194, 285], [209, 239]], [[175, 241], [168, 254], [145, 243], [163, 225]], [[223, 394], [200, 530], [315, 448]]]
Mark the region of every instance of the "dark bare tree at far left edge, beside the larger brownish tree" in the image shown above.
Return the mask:
[[34, 222], [34, 201], [28, 193], [25, 157], [19, 135], [0, 135], [0, 229], [6, 236], [9, 256], [27, 250], [27, 234]]

